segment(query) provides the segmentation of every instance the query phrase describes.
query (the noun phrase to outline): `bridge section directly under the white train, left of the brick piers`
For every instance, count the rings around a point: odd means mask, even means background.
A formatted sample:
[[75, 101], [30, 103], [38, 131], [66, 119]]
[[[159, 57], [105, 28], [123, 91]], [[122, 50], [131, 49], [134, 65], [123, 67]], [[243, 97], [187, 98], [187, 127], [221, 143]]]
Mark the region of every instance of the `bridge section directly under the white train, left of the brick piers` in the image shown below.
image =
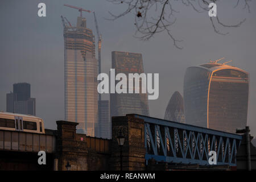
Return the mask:
[[[39, 166], [37, 163], [39, 151], [45, 151], [47, 154], [46, 166]], [[54, 130], [46, 130], [46, 134], [0, 130], [0, 169], [51, 170], [54, 166], [55, 152]]]

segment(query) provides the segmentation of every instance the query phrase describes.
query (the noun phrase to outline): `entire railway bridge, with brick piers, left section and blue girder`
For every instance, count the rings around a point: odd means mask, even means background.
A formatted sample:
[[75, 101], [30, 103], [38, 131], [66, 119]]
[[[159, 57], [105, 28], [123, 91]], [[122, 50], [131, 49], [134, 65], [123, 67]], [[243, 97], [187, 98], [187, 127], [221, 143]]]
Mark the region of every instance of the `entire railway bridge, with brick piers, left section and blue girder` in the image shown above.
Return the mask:
[[[151, 160], [168, 165], [209, 166], [209, 151], [216, 166], [236, 166], [242, 136], [166, 121], [138, 114], [112, 117], [112, 139], [77, 134], [75, 122], [57, 121], [57, 130], [45, 134], [0, 130], [0, 169], [146, 170]], [[119, 134], [125, 137], [122, 149]], [[122, 150], [122, 156], [121, 155]], [[38, 164], [46, 151], [47, 164]]]

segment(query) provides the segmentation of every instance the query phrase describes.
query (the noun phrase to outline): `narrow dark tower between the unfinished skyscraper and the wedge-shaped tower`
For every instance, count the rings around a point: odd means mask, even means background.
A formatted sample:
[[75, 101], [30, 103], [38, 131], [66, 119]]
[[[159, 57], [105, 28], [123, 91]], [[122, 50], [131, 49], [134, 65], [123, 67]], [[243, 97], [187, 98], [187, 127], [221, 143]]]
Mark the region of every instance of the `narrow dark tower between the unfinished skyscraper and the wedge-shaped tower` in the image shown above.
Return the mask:
[[109, 122], [109, 101], [108, 100], [101, 100], [98, 101], [98, 106], [100, 107], [100, 123], [99, 129], [100, 132], [98, 137], [101, 138], [108, 138], [110, 139], [110, 122]]

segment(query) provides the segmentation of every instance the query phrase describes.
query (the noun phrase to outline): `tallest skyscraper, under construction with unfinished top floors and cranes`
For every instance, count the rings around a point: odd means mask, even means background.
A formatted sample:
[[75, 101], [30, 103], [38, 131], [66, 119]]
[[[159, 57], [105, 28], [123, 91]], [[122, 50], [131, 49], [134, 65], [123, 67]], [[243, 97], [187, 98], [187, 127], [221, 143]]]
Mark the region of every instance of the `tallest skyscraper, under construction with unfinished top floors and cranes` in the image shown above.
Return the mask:
[[[63, 17], [62, 17], [63, 18]], [[76, 27], [64, 22], [65, 119], [79, 123], [77, 131], [95, 136], [98, 125], [98, 63], [92, 30], [77, 17]]]

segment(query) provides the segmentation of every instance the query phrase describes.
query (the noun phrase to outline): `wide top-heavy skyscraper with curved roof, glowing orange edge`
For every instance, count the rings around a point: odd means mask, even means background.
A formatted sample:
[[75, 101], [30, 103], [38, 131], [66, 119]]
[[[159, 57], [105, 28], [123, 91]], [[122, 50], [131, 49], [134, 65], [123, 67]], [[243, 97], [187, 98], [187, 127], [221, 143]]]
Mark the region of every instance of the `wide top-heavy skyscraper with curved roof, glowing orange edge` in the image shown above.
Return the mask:
[[184, 78], [186, 123], [235, 133], [247, 122], [249, 74], [216, 61], [189, 67]]

